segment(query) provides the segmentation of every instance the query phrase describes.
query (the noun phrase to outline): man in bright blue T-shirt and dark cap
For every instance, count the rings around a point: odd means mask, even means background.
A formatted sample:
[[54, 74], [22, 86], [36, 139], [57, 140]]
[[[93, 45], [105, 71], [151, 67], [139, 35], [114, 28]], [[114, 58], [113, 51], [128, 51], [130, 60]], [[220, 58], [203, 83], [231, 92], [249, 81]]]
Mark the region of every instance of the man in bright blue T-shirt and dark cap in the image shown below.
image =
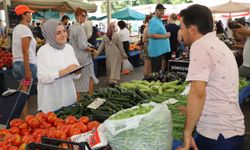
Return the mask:
[[148, 26], [148, 54], [151, 59], [152, 72], [159, 72], [161, 70], [163, 54], [171, 51], [169, 43], [171, 34], [166, 31], [161, 20], [165, 9], [162, 4], [158, 4], [155, 8], [155, 15], [150, 20]]

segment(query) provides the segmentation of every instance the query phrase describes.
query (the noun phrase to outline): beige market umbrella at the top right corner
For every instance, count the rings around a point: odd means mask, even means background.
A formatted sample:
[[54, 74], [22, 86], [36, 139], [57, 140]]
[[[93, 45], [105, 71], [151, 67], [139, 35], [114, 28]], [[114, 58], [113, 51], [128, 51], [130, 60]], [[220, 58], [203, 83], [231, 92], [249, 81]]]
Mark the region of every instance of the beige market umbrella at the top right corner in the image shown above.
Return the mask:
[[237, 2], [227, 2], [222, 5], [210, 7], [213, 13], [237, 13], [237, 12], [249, 12], [250, 3], [237, 3]]

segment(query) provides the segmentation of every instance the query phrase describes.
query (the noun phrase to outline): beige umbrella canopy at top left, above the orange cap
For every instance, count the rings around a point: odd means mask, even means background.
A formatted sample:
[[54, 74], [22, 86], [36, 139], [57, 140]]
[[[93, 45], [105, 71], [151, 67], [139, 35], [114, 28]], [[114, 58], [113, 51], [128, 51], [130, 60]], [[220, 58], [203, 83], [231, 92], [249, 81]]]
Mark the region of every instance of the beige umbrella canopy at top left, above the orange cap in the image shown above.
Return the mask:
[[[95, 12], [97, 6], [83, 2], [81, 0], [10, 0], [11, 6], [27, 5], [35, 11], [59, 11], [59, 12], [74, 12], [77, 7], [85, 9], [87, 12]], [[1, 3], [3, 9], [3, 3]]]

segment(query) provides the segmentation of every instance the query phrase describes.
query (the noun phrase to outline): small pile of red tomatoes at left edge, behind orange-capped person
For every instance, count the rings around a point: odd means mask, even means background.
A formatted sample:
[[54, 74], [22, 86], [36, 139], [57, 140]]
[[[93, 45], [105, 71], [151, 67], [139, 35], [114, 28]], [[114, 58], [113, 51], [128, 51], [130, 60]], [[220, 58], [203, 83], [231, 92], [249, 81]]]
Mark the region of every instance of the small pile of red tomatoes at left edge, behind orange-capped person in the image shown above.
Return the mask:
[[12, 54], [8, 51], [0, 49], [0, 69], [3, 67], [12, 67]]

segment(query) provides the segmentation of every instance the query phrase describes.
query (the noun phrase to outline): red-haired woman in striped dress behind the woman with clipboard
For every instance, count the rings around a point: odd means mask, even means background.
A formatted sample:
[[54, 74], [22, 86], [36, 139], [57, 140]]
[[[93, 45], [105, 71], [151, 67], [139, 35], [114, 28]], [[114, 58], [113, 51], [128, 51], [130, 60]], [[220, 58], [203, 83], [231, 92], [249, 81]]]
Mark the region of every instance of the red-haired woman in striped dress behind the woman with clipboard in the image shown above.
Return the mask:
[[[86, 17], [87, 11], [77, 8], [75, 12], [76, 22], [70, 28], [69, 34], [70, 44], [73, 46], [76, 58], [81, 65], [93, 62], [91, 55], [97, 52], [95, 49], [88, 46], [86, 32], [82, 26]], [[89, 94], [92, 95], [94, 92], [94, 83], [98, 83], [93, 63], [82, 69], [82, 74], [84, 74], [84, 76], [75, 80], [78, 101], [81, 99], [81, 93], [89, 92]]]

